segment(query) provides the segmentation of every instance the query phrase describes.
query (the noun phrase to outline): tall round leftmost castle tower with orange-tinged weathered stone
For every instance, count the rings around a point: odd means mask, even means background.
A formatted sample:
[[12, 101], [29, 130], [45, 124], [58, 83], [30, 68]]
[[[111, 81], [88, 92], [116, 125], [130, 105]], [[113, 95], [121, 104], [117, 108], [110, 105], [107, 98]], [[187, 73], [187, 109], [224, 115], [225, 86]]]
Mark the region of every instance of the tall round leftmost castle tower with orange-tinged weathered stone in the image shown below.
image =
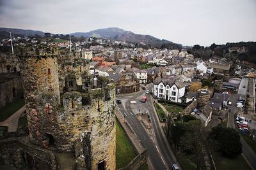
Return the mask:
[[19, 59], [30, 140], [41, 146], [54, 145], [56, 111], [60, 105], [58, 52], [53, 47], [31, 46], [19, 50]]

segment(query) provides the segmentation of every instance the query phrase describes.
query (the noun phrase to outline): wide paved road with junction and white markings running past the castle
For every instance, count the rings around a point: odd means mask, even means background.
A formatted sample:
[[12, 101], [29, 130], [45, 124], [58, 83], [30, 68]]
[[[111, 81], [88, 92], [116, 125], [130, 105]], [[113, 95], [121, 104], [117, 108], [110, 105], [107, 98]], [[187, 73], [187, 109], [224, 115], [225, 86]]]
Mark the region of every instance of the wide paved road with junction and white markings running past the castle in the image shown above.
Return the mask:
[[[149, 89], [152, 88], [152, 85]], [[142, 96], [147, 96], [148, 101], [141, 103]], [[138, 136], [143, 147], [148, 150], [149, 163], [153, 169], [170, 169], [173, 162], [176, 162], [170, 146], [164, 136], [163, 129], [159, 124], [158, 117], [152, 105], [153, 99], [149, 94], [145, 94], [145, 90], [136, 93], [132, 96], [117, 96], [117, 99], [122, 99], [122, 104], [118, 104], [120, 111], [125, 113], [125, 120], [131, 125], [132, 129]], [[130, 101], [136, 101], [132, 105]], [[134, 110], [135, 108], [135, 110]], [[146, 130], [136, 116], [136, 110], [147, 110], [150, 114], [152, 122], [152, 130]]]

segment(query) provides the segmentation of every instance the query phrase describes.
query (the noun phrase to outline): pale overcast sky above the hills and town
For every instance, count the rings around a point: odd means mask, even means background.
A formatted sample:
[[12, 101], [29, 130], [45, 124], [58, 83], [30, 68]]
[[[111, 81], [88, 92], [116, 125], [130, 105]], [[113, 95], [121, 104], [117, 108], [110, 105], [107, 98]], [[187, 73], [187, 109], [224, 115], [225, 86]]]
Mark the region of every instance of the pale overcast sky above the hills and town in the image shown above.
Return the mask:
[[119, 27], [209, 46], [256, 41], [256, 1], [0, 0], [0, 27], [63, 34]]

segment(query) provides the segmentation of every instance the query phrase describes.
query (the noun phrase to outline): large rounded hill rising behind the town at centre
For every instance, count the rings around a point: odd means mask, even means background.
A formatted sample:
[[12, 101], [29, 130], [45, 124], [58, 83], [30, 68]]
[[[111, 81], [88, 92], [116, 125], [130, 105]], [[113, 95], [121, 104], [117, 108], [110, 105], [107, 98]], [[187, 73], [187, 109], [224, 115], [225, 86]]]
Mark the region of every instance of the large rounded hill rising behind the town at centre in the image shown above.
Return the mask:
[[73, 36], [84, 36], [84, 37], [96, 37], [96, 38], [107, 38], [114, 39], [117, 41], [125, 41], [127, 43], [140, 43], [143, 42], [147, 45], [157, 46], [157, 47], [170, 47], [170, 48], [181, 48], [181, 45], [175, 44], [171, 41], [161, 40], [155, 38], [154, 36], [134, 34], [131, 31], [125, 31], [116, 27], [97, 29], [90, 32], [75, 32]]

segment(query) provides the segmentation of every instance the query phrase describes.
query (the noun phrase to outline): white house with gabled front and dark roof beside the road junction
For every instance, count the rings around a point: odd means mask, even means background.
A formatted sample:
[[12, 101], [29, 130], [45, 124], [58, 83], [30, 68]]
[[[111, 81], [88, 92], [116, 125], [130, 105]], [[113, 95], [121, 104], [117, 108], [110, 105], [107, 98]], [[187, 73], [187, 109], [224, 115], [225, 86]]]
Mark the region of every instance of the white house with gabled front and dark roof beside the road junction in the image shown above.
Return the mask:
[[182, 81], [175, 81], [170, 78], [156, 78], [153, 93], [159, 99], [181, 103], [180, 97], [185, 94], [185, 86]]

